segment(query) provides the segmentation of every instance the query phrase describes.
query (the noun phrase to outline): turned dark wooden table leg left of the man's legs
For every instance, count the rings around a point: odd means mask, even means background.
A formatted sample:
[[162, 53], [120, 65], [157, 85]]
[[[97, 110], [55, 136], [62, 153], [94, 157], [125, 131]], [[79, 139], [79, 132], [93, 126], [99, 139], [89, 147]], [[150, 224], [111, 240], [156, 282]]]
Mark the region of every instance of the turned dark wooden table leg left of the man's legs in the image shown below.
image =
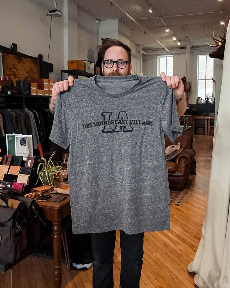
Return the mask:
[[52, 222], [53, 254], [54, 254], [54, 286], [61, 288], [61, 222]]

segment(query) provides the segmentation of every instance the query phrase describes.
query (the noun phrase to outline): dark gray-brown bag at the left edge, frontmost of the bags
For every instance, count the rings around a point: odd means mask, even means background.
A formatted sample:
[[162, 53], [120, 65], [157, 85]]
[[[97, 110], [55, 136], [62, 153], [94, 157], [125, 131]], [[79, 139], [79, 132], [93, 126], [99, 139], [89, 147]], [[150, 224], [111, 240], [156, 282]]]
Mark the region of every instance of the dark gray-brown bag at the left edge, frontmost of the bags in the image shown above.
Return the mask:
[[0, 195], [0, 199], [4, 204], [0, 207], [0, 260], [13, 263], [27, 247], [23, 204], [10, 199], [16, 207], [10, 208], [6, 197]]

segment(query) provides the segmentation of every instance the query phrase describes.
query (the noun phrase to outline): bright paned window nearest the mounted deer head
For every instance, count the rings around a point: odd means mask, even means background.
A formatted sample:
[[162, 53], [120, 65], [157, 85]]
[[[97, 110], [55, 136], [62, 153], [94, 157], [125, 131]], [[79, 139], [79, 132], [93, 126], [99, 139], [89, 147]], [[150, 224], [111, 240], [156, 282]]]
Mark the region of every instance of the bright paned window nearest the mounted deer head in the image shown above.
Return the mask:
[[198, 55], [197, 59], [197, 97], [202, 99], [202, 102], [209, 98], [212, 99], [213, 90], [213, 58], [208, 55]]

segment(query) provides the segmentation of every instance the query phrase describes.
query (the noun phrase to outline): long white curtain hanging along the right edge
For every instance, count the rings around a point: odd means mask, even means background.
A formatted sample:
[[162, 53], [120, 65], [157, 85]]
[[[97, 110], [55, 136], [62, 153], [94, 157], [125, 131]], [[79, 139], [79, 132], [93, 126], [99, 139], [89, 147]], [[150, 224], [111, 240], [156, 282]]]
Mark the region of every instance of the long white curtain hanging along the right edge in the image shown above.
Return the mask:
[[194, 283], [200, 288], [230, 288], [230, 25], [213, 144], [202, 238], [188, 271], [196, 273]]

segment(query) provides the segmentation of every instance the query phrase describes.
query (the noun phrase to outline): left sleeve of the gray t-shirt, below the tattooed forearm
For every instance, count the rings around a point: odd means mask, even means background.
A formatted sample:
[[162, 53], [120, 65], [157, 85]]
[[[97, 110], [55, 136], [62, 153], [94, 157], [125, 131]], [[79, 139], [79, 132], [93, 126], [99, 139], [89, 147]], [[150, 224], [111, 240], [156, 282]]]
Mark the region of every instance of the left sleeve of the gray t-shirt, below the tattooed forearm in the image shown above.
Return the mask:
[[68, 95], [57, 95], [54, 122], [49, 139], [66, 149], [70, 143], [72, 127], [72, 113], [68, 101]]

